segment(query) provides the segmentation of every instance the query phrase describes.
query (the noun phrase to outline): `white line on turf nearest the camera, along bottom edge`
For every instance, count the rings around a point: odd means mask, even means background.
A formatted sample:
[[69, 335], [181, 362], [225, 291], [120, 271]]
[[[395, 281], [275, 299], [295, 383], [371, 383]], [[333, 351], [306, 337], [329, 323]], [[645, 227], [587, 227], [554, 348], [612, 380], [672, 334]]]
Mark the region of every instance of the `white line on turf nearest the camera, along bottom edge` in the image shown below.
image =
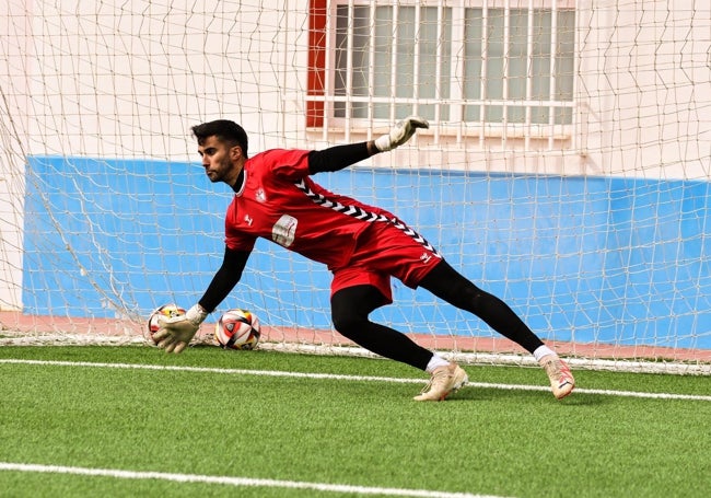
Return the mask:
[[71, 467], [63, 465], [37, 465], [25, 463], [0, 462], [0, 471], [35, 472], [46, 474], [70, 474], [120, 479], [159, 479], [176, 483], [221, 484], [229, 486], [253, 486], [289, 489], [312, 489], [317, 491], [348, 493], [359, 495], [386, 495], [421, 498], [501, 498], [492, 495], [471, 495], [468, 493], [430, 491], [427, 489], [377, 488], [350, 486], [342, 484], [303, 483], [298, 480], [255, 479], [249, 477], [230, 477], [218, 475], [172, 474], [163, 472], [136, 472], [112, 468]]

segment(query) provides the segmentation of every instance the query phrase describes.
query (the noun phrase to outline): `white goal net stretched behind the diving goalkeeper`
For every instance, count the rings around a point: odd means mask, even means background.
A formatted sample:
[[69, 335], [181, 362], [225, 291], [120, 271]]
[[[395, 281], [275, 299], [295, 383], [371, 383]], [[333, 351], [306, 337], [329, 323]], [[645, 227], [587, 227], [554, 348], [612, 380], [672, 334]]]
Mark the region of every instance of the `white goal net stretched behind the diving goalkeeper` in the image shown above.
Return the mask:
[[[9, 0], [0, 5], [3, 341], [141, 343], [202, 296], [249, 151], [430, 129], [316, 179], [392, 210], [580, 366], [709, 372], [711, 8], [689, 0]], [[260, 240], [208, 322], [347, 351], [326, 268]], [[373, 319], [473, 361], [529, 356], [393, 280]], [[210, 323], [201, 334], [209, 340]]]

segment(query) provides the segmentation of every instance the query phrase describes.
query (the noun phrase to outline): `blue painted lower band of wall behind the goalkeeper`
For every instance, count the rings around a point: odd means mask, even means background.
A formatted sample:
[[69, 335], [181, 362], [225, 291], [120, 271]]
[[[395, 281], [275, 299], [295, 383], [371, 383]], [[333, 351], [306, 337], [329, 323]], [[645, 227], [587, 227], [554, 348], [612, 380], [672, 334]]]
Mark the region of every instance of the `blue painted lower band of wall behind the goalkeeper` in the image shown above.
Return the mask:
[[[711, 348], [709, 183], [364, 169], [316, 179], [395, 211], [544, 337]], [[31, 158], [25, 312], [193, 304], [220, 265], [230, 198], [195, 164]], [[319, 265], [259, 241], [221, 309], [324, 328], [328, 285]], [[491, 335], [426, 291], [394, 287], [396, 304], [380, 320]]]

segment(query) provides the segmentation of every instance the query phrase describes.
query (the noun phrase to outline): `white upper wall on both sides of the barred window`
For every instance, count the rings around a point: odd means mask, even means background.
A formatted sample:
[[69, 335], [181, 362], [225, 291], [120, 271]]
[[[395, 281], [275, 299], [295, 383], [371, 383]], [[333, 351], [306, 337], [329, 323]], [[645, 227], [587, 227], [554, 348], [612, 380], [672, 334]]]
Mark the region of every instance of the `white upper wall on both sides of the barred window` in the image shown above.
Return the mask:
[[[180, 8], [132, 0], [129, 13], [118, 0], [25, 0], [32, 36], [24, 39], [18, 33], [23, 2], [14, 2], [4, 5], [2, 36], [10, 56], [28, 54], [3, 73], [19, 79], [26, 71], [30, 105], [14, 92], [9, 106], [18, 117], [26, 114], [31, 153], [185, 159], [194, 157], [189, 127], [225, 116], [252, 134], [253, 150], [325, 144], [305, 130], [305, 1]], [[513, 140], [515, 147], [501, 150], [491, 140], [483, 154], [471, 140], [465, 149], [473, 158], [465, 161], [509, 158], [539, 171], [536, 157], [543, 155], [568, 174], [708, 178], [711, 7], [692, 0], [578, 3], [582, 57], [572, 147], [557, 157], [522, 151]], [[430, 152], [462, 149], [436, 148]], [[586, 165], [579, 171], [581, 158]]]

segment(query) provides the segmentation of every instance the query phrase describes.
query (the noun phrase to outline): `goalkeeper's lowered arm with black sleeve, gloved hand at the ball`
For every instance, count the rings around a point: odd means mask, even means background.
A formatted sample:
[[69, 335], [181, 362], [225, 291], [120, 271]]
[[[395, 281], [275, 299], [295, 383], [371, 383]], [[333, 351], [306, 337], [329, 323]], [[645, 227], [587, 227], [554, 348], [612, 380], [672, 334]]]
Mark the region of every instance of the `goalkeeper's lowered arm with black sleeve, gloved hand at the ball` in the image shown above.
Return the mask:
[[153, 338], [158, 347], [166, 352], [182, 352], [187, 347], [200, 324], [212, 313], [242, 278], [242, 271], [247, 264], [249, 252], [224, 250], [224, 257], [220, 269], [212, 277], [212, 281], [197, 304], [186, 314], [166, 320], [161, 323]]

